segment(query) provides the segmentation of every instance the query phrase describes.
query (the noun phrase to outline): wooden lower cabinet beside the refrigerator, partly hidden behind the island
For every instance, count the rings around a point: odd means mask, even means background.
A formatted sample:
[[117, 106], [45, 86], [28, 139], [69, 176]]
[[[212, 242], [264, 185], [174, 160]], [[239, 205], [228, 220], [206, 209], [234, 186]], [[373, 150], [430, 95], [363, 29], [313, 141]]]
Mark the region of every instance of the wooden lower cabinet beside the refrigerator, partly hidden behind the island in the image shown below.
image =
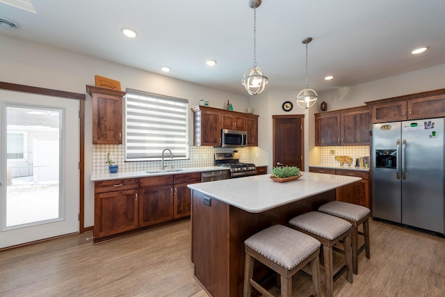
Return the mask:
[[369, 171], [309, 167], [309, 172], [362, 177], [362, 180], [359, 182], [337, 188], [336, 200], [362, 205], [371, 209], [371, 203], [369, 199], [371, 196], [371, 187], [369, 186]]

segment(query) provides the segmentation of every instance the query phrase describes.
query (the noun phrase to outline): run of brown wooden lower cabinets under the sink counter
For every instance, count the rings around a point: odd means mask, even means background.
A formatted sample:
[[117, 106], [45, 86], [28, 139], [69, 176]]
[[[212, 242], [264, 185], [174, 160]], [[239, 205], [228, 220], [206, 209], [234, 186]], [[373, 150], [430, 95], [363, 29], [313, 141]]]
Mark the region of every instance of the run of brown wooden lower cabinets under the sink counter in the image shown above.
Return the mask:
[[95, 241], [191, 213], [188, 184], [201, 172], [95, 182]]

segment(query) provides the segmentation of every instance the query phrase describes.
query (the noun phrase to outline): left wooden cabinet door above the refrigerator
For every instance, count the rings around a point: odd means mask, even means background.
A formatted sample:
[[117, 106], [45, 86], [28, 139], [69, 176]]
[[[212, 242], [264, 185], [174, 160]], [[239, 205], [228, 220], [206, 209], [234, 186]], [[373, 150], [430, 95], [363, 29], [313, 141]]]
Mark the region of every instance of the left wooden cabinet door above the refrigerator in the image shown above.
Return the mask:
[[381, 102], [371, 105], [371, 122], [407, 120], [407, 101]]

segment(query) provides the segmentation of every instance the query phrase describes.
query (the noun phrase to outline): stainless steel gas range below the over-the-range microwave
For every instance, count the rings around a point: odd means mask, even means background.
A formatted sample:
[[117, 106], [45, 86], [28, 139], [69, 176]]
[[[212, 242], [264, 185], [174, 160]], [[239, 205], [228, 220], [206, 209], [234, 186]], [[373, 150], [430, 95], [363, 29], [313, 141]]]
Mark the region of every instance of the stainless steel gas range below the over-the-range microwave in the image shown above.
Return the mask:
[[255, 164], [239, 162], [238, 152], [216, 152], [215, 165], [230, 168], [229, 178], [257, 175]]

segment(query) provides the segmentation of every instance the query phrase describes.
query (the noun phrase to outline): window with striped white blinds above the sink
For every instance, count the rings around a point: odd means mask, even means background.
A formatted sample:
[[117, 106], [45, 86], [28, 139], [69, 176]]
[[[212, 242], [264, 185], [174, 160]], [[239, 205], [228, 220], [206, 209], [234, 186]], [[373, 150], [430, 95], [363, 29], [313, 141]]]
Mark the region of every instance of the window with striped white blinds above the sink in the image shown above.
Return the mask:
[[125, 114], [127, 161], [188, 158], [188, 100], [127, 89]]

